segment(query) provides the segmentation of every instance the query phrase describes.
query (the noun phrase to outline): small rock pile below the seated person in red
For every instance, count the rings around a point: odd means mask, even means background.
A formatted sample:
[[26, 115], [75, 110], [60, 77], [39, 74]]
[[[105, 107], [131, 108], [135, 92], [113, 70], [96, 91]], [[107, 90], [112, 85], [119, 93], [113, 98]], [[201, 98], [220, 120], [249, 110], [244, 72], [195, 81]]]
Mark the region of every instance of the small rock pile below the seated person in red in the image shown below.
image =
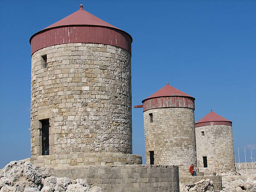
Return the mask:
[[210, 179], [201, 180], [196, 182], [195, 184], [184, 185], [179, 183], [179, 191], [180, 192], [210, 192], [213, 191], [213, 184]]

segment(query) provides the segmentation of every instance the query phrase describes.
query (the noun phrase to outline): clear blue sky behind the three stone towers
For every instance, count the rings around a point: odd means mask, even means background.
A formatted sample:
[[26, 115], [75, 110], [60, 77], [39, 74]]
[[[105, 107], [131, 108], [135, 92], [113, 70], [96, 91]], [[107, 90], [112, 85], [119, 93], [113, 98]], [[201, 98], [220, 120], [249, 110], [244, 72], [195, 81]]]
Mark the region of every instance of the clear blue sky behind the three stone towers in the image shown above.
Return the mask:
[[[84, 9], [133, 37], [133, 105], [166, 81], [233, 121], [235, 156], [256, 159], [256, 1], [38, 0], [0, 2], [0, 168], [30, 157], [29, 38]], [[142, 109], [133, 109], [133, 154], [144, 156]]]

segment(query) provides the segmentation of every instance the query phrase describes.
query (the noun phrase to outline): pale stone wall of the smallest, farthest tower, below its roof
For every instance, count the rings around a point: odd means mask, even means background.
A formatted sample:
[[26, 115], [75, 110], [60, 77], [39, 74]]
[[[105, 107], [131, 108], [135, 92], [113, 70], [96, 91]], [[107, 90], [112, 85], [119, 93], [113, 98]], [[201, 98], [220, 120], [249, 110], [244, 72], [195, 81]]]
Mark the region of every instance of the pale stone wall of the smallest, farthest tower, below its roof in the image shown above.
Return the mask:
[[[204, 131], [204, 136], [202, 136]], [[229, 125], [207, 125], [195, 128], [197, 143], [197, 167], [204, 167], [203, 156], [207, 157], [210, 171], [235, 170], [232, 127]], [[208, 170], [208, 171], [209, 171]]]

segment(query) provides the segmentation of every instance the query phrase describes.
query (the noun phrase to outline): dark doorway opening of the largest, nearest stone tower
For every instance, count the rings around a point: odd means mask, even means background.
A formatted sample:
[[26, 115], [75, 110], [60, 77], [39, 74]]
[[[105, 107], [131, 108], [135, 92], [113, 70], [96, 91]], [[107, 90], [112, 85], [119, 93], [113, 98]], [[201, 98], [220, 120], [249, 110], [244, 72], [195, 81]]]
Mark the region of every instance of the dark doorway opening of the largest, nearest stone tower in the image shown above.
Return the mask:
[[49, 119], [41, 120], [42, 123], [42, 155], [49, 155]]

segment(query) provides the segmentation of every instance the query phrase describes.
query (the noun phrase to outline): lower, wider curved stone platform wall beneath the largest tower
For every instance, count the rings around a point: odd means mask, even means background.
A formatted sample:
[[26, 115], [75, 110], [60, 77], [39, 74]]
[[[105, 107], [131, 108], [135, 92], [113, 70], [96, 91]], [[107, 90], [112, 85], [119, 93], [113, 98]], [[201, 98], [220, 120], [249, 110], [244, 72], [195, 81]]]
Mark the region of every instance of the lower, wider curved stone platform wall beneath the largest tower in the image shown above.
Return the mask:
[[177, 166], [120, 165], [46, 168], [56, 177], [81, 178], [104, 192], [179, 192]]

